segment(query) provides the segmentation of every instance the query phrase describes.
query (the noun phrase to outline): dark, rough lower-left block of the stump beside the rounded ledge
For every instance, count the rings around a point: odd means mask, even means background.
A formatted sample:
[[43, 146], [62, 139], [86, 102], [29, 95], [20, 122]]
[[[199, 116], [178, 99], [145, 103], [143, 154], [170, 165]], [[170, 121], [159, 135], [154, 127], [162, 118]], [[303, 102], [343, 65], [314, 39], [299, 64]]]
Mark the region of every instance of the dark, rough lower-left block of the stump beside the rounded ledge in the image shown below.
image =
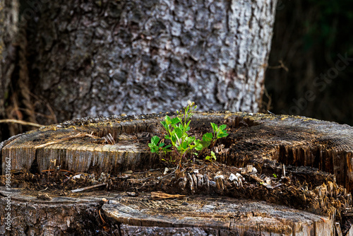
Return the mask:
[[[0, 220], [0, 235], [102, 235], [97, 214], [100, 199], [80, 199], [56, 196], [52, 200], [38, 199], [35, 194], [12, 188], [9, 193], [0, 187], [0, 193], [11, 195], [11, 231]], [[26, 192], [26, 190], [25, 190]], [[1, 216], [6, 216], [6, 199], [0, 196]], [[97, 230], [97, 231], [96, 231]]]

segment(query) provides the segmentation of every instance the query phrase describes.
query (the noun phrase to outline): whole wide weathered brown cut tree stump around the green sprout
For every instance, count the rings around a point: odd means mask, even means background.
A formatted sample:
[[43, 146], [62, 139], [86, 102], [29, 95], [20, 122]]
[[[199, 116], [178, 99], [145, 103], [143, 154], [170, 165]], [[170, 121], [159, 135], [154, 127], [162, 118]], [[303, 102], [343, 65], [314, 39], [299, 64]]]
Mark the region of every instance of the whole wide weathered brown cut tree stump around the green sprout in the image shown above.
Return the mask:
[[[13, 194], [11, 235], [352, 231], [351, 126], [285, 115], [196, 112], [192, 135], [201, 138], [214, 122], [227, 124], [229, 136], [212, 149], [217, 162], [193, 160], [180, 172], [147, 145], [154, 135], [164, 137], [164, 115], [76, 119], [0, 143], [1, 185], [11, 160], [13, 189], [0, 191], [3, 203]], [[3, 233], [8, 232], [1, 226]]]

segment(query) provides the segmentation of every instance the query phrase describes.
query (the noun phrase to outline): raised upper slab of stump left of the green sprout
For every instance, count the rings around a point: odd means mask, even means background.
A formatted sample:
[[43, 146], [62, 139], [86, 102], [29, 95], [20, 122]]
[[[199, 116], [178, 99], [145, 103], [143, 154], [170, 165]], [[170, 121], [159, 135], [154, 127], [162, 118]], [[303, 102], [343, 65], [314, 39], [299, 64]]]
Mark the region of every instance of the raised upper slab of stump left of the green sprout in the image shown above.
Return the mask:
[[[92, 122], [83, 126], [81, 123], [47, 126], [44, 129], [30, 131], [26, 136], [19, 136], [19, 139], [5, 141], [2, 149], [0, 148], [1, 158], [4, 159], [2, 163], [5, 163], [6, 157], [11, 157], [13, 170], [30, 170], [36, 162], [39, 171], [60, 166], [73, 172], [98, 174], [100, 172], [116, 174], [122, 170], [138, 170], [160, 163], [159, 157], [151, 154], [148, 146], [133, 140], [133, 134], [152, 131], [150, 126], [156, 126], [156, 119], [150, 119], [148, 122], [142, 120], [130, 122], [130, 119], [122, 122], [119, 119], [97, 120], [98, 122], [95, 122], [92, 119]], [[85, 136], [92, 133], [95, 134], [95, 138]], [[126, 133], [130, 134], [130, 137], [123, 135]], [[102, 137], [107, 134], [112, 134], [117, 143], [103, 144]], [[20, 156], [25, 158], [18, 158]]]

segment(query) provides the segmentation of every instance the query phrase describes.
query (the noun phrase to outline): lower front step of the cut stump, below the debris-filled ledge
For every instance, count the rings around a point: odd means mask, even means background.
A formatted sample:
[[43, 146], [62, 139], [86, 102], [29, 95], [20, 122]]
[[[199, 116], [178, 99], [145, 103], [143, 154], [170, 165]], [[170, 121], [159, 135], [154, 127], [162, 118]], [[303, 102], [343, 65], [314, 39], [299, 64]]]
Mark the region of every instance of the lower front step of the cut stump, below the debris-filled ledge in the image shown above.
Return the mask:
[[[35, 191], [11, 193], [13, 218], [11, 235], [23, 235], [25, 227], [37, 235], [104, 235], [101, 225], [109, 225], [116, 235], [332, 235], [333, 216], [318, 216], [263, 201], [193, 196], [187, 199], [153, 201], [149, 194], [137, 198], [99, 191], [85, 196], [53, 196], [38, 199]], [[7, 194], [1, 189], [1, 194]], [[92, 196], [90, 196], [92, 195]], [[102, 206], [102, 199], [109, 201]], [[5, 203], [0, 198], [0, 203]], [[104, 222], [97, 213], [101, 212]], [[25, 214], [24, 214], [25, 212]], [[90, 223], [90, 225], [87, 225]], [[28, 225], [28, 226], [26, 226]], [[42, 225], [39, 227], [39, 225]], [[97, 230], [97, 231], [95, 231]], [[0, 233], [8, 235], [4, 225]], [[109, 232], [110, 234], [111, 232]]]

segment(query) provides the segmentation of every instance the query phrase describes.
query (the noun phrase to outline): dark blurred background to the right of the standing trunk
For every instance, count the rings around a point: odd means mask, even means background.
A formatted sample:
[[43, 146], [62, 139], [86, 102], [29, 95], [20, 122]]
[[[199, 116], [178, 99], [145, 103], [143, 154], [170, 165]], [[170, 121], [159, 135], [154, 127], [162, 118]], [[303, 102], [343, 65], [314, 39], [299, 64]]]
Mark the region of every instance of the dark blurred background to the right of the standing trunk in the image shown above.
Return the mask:
[[353, 125], [353, 1], [278, 1], [263, 112]]

